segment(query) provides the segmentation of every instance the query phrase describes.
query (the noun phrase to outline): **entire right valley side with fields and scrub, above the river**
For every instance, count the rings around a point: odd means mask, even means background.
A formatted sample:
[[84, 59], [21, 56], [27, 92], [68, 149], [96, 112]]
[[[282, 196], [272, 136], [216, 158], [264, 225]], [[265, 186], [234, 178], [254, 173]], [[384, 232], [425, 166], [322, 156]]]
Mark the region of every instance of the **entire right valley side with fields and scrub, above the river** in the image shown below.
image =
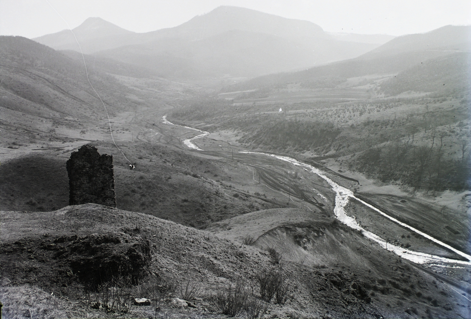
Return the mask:
[[332, 157], [337, 170], [412, 192], [468, 190], [470, 30], [446, 26], [355, 59], [239, 82], [169, 120], [234, 130], [247, 149]]

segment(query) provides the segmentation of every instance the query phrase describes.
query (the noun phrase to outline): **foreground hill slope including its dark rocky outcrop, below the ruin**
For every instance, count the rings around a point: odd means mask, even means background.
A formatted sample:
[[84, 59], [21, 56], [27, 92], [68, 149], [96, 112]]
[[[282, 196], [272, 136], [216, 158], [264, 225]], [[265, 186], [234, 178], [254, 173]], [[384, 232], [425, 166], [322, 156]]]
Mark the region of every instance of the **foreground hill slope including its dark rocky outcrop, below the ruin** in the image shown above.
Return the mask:
[[[125, 301], [152, 298], [146, 287], [160, 285], [159, 309], [172, 318], [219, 318], [216, 296], [237, 278], [253, 289], [252, 298], [260, 299], [257, 281], [250, 279], [270, 270], [283, 274], [289, 287], [286, 303], [276, 304], [275, 298], [262, 303], [276, 318], [402, 318], [405, 312], [418, 318], [467, 316], [466, 308], [460, 306], [463, 296], [447, 283], [435, 281], [423, 268], [399, 261], [360, 233], [317, 211], [262, 210], [228, 220], [228, 225], [244, 229], [244, 225], [266, 222], [264, 215], [276, 219], [276, 228], [260, 233], [258, 241], [264, 245], [260, 249], [257, 244], [251, 247], [227, 239], [227, 226], [222, 223], [211, 232], [201, 231], [97, 204], [51, 212], [3, 211], [2, 278], [15, 283], [2, 288], [4, 314], [17, 318], [27, 318], [23, 314], [30, 312], [42, 318], [85, 317], [87, 313], [102, 317], [108, 300], [104, 300], [103, 291], [87, 291], [86, 285], [95, 281], [106, 284], [111, 279], [97, 274], [124, 262], [127, 266], [121, 273], [138, 280], [123, 294]], [[265, 245], [273, 248], [281, 242], [298, 254], [329, 256], [335, 265], [313, 267], [310, 260], [303, 264], [290, 258], [277, 264]], [[317, 249], [305, 250], [303, 245]], [[335, 249], [348, 258], [339, 258]], [[358, 271], [357, 265], [366, 267]], [[84, 267], [88, 271], [80, 272]], [[162, 289], [168, 285], [174, 285], [174, 290]], [[194, 308], [172, 303], [174, 297], [184, 298], [185, 290], [179, 287], [186, 285], [204, 289], [204, 294], [197, 292], [196, 299], [191, 299]], [[30, 303], [25, 307], [21, 300], [27, 294]], [[44, 298], [46, 294], [48, 298]], [[112, 300], [110, 297], [109, 304]], [[103, 303], [101, 308], [92, 307], [97, 301]], [[154, 308], [130, 305], [127, 312], [132, 317], [148, 317]], [[120, 311], [114, 315], [124, 316]]]

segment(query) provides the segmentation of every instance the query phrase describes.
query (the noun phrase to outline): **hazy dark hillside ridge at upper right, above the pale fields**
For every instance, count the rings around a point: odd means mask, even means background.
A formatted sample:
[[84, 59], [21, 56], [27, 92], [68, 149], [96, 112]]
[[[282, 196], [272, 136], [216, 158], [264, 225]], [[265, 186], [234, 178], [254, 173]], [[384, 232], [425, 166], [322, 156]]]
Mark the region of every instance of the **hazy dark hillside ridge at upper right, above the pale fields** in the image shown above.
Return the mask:
[[[426, 61], [435, 59], [445, 62], [450, 55], [455, 56], [460, 52], [470, 52], [470, 31], [471, 27], [469, 26], [445, 26], [423, 34], [397, 37], [354, 59], [333, 62], [299, 72], [253, 78], [228, 86], [222, 92], [269, 87], [285, 88], [287, 84], [291, 83], [300, 83], [301, 86], [308, 88], [329, 87], [325, 84], [330, 83], [331, 87], [334, 87], [345, 82], [347, 78], [367, 75], [388, 77], [391, 74], [418, 67]], [[460, 65], [466, 61], [463, 55], [456, 55], [455, 59], [461, 61], [457, 62]], [[431, 64], [426, 65], [432, 67]], [[435, 63], [434, 67], [437, 65]], [[443, 67], [445, 68], [445, 66]], [[456, 74], [456, 77], [460, 77], [460, 80], [454, 81], [464, 80], [461, 72]]]

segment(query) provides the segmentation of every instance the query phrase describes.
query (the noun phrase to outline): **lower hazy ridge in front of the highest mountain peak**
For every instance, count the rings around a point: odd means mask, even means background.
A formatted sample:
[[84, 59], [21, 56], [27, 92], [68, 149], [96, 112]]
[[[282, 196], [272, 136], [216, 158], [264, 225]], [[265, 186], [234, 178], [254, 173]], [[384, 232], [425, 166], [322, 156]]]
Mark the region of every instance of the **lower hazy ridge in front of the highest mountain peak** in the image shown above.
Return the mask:
[[164, 38], [97, 53], [97, 56], [147, 67], [162, 76], [253, 77], [341, 60], [346, 50], [360, 54], [364, 45], [303, 38], [282, 38], [253, 31], [232, 30], [199, 40]]

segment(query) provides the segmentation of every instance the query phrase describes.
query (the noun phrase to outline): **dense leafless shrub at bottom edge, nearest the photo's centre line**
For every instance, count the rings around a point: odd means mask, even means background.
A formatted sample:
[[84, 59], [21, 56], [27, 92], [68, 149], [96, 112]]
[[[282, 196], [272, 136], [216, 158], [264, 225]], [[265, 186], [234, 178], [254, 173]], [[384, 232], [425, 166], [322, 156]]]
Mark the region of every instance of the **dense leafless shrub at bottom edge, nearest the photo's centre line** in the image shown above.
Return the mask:
[[238, 316], [245, 308], [250, 293], [245, 288], [245, 280], [235, 278], [235, 284], [230, 282], [226, 287], [219, 288], [215, 296], [216, 306], [224, 315], [229, 317]]

